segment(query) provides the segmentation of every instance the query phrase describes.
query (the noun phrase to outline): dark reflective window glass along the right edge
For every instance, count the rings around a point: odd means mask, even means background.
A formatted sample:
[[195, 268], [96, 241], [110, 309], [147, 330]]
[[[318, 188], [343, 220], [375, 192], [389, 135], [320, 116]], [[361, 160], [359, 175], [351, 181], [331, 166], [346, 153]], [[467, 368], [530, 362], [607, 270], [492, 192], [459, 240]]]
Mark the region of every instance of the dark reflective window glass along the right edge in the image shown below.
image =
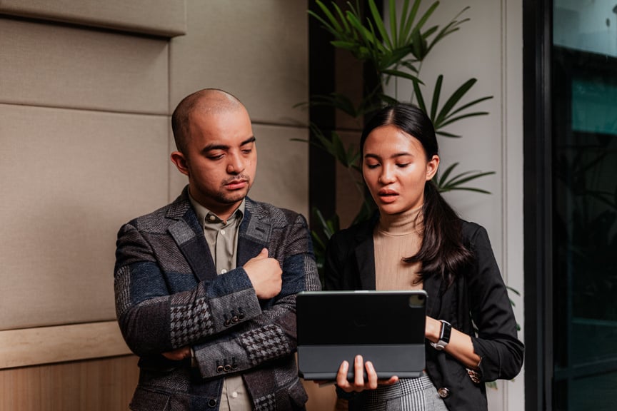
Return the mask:
[[612, 3], [553, 3], [554, 410], [615, 410], [617, 404], [617, 1]]

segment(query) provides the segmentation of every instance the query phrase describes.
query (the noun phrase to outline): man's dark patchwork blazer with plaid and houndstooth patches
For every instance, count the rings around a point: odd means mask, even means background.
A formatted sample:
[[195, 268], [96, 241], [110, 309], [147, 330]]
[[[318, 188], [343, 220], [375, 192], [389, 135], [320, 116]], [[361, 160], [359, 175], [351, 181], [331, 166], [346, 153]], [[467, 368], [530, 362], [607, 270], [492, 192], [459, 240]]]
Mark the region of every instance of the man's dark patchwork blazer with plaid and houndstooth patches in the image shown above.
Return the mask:
[[[283, 270], [281, 293], [259, 300], [242, 266], [268, 248]], [[306, 220], [246, 198], [237, 267], [216, 275], [188, 189], [122, 226], [116, 242], [116, 314], [139, 355], [131, 410], [218, 410], [224, 377], [241, 373], [255, 410], [302, 410], [296, 293], [318, 290]], [[194, 357], [162, 352], [190, 346]]]

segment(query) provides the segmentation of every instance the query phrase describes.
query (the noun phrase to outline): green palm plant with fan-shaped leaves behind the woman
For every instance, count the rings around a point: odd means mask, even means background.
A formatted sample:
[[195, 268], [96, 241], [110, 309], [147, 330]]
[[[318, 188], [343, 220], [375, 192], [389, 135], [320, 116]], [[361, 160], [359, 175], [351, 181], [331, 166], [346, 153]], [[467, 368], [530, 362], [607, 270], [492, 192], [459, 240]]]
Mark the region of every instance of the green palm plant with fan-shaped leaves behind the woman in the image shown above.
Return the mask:
[[[309, 10], [308, 14], [317, 19], [323, 29], [331, 34], [332, 46], [349, 51], [354, 59], [365, 64], [365, 67], [368, 66], [369, 70], [373, 70], [372, 74], [378, 78], [378, 81], [376, 86], [365, 90], [360, 101], [353, 101], [352, 98], [342, 93], [330, 93], [311, 96], [308, 103], [301, 103], [297, 106], [331, 107], [353, 118], [358, 128], [361, 128], [363, 118], [370, 116], [384, 104], [407, 101], [415, 103], [428, 114], [438, 136], [460, 138], [460, 135], [448, 131], [447, 128], [464, 118], [486, 116], [488, 112], [474, 108], [492, 96], [466, 101], [468, 92], [477, 82], [476, 78], [465, 81], [450, 96], [443, 96], [443, 75], [438, 76], [429, 96], [426, 92], [426, 84], [421, 80], [421, 68], [423, 61], [433, 48], [447, 36], [458, 31], [461, 25], [469, 20], [461, 17], [468, 7], [463, 8], [440, 27], [430, 24], [431, 17], [439, 6], [439, 1], [433, 1], [423, 12], [421, 12], [421, 4], [422, 0], [413, 0], [413, 2], [403, 0], [399, 11], [396, 0], [387, 0], [384, 13], [388, 17], [386, 22], [375, 0], [366, 1], [366, 16], [363, 16], [358, 0], [356, 4], [348, 1], [344, 9], [341, 9], [335, 1], [326, 4], [321, 0], [316, 0], [317, 11]], [[395, 84], [411, 82], [411, 95], [404, 100], [396, 95], [398, 91], [394, 96], [388, 95], [384, 90], [391, 81]], [[343, 143], [336, 131], [326, 136], [314, 124], [311, 125], [311, 136], [313, 136], [311, 143], [336, 158], [336, 161], [351, 174], [353, 181], [356, 181], [356, 186], [363, 198], [363, 205], [353, 222], [368, 218], [374, 209], [374, 204], [371, 196], [366, 195], [361, 174], [358, 173], [359, 148], [353, 144]], [[458, 166], [459, 163], [455, 162], [433, 178], [439, 191], [465, 190], [489, 193], [469, 184], [478, 178], [494, 174], [493, 171], [459, 173]], [[321, 223], [321, 233], [313, 233], [316, 255], [321, 261], [330, 235], [339, 228], [338, 216], [334, 215], [327, 219], [321, 215], [319, 210], [313, 210], [313, 215]]]

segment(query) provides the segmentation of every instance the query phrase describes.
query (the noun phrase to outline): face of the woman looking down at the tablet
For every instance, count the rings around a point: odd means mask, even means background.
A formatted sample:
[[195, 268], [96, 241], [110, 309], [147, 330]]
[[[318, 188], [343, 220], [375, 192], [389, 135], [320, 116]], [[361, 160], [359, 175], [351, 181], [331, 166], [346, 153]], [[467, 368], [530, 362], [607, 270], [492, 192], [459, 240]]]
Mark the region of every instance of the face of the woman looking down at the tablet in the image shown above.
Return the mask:
[[398, 214], [424, 202], [424, 184], [439, 166], [439, 157], [426, 161], [417, 138], [396, 126], [375, 128], [364, 142], [362, 174], [380, 213]]

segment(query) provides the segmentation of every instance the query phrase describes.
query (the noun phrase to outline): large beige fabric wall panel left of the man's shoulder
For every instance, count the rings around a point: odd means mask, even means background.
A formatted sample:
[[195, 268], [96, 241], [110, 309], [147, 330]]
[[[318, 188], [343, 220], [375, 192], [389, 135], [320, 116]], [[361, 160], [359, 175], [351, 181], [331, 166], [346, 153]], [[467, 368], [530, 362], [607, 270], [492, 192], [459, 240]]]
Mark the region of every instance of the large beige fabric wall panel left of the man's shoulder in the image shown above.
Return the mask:
[[167, 121], [0, 104], [0, 329], [115, 318], [116, 233], [166, 202]]

